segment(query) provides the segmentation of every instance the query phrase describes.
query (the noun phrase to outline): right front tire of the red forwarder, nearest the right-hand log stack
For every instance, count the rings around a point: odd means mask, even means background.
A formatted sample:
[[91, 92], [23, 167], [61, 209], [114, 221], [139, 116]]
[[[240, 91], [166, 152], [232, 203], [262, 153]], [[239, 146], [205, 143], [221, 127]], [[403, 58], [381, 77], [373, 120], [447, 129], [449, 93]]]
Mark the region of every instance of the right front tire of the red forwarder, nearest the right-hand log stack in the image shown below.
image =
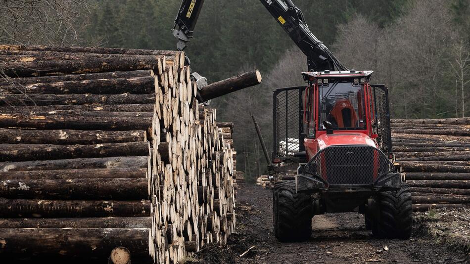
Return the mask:
[[382, 238], [410, 238], [413, 208], [408, 184], [402, 184], [398, 191], [381, 191], [378, 199], [379, 219], [374, 222], [373, 233]]

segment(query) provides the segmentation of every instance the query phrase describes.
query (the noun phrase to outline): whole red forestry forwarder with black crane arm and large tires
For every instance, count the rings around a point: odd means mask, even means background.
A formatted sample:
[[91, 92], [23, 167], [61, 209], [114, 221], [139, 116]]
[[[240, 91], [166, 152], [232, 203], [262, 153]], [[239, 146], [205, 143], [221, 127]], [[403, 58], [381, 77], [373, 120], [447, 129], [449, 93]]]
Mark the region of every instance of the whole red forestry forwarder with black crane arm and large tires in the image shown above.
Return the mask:
[[[407, 239], [411, 192], [393, 165], [388, 90], [370, 84], [372, 71], [347, 69], [309, 30], [291, 0], [260, 0], [307, 56], [307, 87], [274, 91], [275, 164], [298, 164], [294, 180], [274, 181], [274, 233], [280, 241], [307, 240], [317, 214], [358, 212], [380, 237]], [[173, 34], [183, 50], [204, 0], [183, 0]], [[200, 78], [199, 75], [194, 76]], [[262, 145], [263, 139], [257, 123]]]

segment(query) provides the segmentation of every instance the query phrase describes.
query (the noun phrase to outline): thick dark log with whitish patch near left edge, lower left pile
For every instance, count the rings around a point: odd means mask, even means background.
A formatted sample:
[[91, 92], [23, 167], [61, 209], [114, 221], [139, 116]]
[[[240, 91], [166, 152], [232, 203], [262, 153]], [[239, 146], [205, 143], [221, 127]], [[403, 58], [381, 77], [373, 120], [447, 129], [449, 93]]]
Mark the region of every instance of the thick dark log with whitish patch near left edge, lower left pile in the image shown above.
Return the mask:
[[7, 179], [0, 196], [21, 199], [140, 200], [148, 199], [146, 178]]

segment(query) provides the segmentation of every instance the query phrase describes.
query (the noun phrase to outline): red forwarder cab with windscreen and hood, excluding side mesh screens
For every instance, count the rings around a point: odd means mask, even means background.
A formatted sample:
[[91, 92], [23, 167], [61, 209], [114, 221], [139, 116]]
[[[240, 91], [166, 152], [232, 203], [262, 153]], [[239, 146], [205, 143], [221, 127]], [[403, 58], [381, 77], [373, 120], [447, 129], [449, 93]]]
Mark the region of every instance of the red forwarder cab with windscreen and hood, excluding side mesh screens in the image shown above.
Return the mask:
[[372, 71], [304, 72], [304, 146], [310, 159], [329, 145], [378, 147], [375, 109], [369, 86]]

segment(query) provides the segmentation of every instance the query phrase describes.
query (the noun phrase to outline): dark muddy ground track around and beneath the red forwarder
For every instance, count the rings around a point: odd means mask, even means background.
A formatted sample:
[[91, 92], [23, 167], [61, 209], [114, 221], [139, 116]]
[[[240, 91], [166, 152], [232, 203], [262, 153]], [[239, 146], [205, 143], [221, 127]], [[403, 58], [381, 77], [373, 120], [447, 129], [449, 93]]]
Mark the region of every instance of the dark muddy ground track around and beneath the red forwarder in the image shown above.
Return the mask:
[[310, 240], [280, 243], [272, 230], [272, 191], [256, 185], [239, 186], [236, 214], [228, 244], [203, 248], [194, 263], [469, 263], [468, 254], [427, 235], [419, 221], [409, 240], [377, 239], [354, 213], [315, 216]]

